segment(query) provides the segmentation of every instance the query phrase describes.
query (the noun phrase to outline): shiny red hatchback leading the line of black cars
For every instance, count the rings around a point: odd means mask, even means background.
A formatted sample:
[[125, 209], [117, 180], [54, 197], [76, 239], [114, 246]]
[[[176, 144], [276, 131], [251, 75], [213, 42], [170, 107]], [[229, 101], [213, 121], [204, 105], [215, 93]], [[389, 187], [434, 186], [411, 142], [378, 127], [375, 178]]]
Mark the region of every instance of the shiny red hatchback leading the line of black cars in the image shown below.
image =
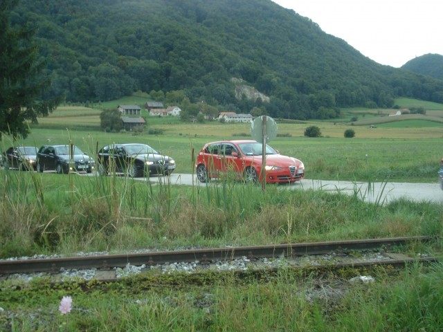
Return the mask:
[[[234, 176], [245, 181], [262, 181], [262, 143], [255, 140], [223, 140], [207, 143], [195, 163], [197, 178], [205, 183], [211, 178]], [[282, 156], [266, 145], [266, 183], [291, 183], [305, 176], [305, 165]]]

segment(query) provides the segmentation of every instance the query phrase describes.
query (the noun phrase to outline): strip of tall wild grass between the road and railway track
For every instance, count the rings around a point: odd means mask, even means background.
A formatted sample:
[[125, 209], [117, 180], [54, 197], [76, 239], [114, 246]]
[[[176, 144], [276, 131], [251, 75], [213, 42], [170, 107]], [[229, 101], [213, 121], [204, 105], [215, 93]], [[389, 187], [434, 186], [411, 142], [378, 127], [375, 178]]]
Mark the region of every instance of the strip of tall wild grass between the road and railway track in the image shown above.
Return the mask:
[[[0, 257], [439, 235], [442, 205], [246, 185], [2, 171]], [[365, 193], [368, 194], [368, 193]]]

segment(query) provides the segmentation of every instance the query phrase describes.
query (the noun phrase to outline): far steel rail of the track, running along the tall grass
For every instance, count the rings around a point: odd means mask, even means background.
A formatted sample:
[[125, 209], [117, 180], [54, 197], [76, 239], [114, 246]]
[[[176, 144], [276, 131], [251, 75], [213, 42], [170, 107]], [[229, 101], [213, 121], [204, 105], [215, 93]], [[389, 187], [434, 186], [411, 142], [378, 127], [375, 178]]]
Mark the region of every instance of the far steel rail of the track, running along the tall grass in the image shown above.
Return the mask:
[[350, 252], [353, 250], [372, 250], [382, 247], [403, 246], [407, 243], [431, 241], [435, 237], [397, 237], [388, 239], [361, 239], [351, 241], [287, 243], [273, 246], [246, 246], [228, 248], [207, 248], [194, 250], [171, 250], [158, 252], [134, 253], [126, 255], [98, 255], [87, 257], [57, 257], [49, 259], [1, 259], [0, 275], [12, 273], [52, 272], [58, 273], [62, 268], [87, 269], [98, 268], [109, 270], [114, 267], [154, 266], [168, 262], [199, 261], [210, 264], [213, 261], [230, 261], [240, 257], [260, 259], [264, 257], [297, 257], [305, 255], [322, 255], [330, 252]]

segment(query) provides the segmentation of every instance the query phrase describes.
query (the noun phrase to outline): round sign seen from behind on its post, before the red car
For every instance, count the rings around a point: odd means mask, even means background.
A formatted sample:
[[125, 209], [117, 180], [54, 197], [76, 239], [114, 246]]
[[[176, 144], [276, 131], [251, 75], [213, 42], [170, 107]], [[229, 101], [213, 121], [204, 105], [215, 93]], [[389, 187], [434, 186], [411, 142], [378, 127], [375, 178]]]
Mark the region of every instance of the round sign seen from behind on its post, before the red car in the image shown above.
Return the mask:
[[266, 143], [277, 136], [277, 123], [269, 116], [259, 116], [251, 122], [251, 136], [262, 143], [262, 190], [266, 187]]

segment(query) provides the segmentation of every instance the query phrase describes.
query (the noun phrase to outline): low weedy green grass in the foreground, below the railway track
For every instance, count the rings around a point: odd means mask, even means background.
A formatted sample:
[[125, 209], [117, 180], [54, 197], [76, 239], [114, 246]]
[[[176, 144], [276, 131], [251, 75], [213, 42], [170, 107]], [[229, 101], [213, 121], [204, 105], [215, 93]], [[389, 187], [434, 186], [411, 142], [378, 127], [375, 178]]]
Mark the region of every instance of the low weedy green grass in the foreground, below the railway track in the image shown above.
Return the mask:
[[[16, 283], [4, 285], [0, 293], [0, 306], [6, 308], [0, 312], [0, 328], [24, 332], [442, 330], [442, 264], [410, 266], [399, 275], [383, 270], [371, 275], [375, 280], [371, 284], [316, 278], [315, 273], [302, 277], [291, 269], [248, 280], [232, 273], [206, 273], [200, 277], [202, 284], [186, 287], [174, 282], [183, 282], [186, 275], [150, 273], [102, 286], [73, 282], [51, 287], [44, 280]], [[57, 311], [63, 296], [73, 299], [66, 315]]]

